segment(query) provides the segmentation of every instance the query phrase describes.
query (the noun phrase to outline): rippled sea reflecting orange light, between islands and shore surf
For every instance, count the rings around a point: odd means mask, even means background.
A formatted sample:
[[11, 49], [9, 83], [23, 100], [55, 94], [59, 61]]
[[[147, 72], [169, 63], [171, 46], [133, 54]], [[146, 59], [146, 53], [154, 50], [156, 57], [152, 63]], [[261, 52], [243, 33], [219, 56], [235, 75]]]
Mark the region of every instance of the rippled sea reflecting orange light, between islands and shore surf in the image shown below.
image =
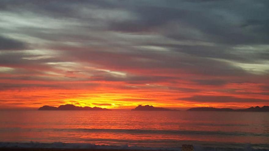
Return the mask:
[[0, 111], [0, 142], [269, 148], [269, 113]]

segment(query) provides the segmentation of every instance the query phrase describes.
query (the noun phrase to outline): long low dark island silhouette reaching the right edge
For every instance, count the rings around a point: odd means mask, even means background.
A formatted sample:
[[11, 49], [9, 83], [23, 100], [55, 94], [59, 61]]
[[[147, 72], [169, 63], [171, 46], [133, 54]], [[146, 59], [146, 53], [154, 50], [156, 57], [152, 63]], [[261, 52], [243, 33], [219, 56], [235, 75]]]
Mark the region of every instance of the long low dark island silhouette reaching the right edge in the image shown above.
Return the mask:
[[269, 112], [269, 106], [250, 107], [247, 109], [230, 109], [230, 108], [214, 108], [214, 107], [195, 107], [187, 111], [232, 111], [232, 112]]

